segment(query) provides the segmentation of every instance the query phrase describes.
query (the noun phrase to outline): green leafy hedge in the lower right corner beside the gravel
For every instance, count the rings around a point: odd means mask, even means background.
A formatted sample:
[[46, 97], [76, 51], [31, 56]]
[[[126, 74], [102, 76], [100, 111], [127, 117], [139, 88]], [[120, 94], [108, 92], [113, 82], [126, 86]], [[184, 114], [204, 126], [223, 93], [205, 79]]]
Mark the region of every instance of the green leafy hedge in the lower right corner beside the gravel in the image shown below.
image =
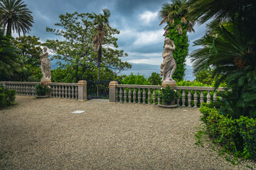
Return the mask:
[[234, 119], [222, 115], [218, 109], [202, 103], [201, 121], [206, 124], [206, 132], [223, 146], [223, 151], [233, 153], [245, 159], [255, 159], [256, 154], [256, 119], [240, 116]]

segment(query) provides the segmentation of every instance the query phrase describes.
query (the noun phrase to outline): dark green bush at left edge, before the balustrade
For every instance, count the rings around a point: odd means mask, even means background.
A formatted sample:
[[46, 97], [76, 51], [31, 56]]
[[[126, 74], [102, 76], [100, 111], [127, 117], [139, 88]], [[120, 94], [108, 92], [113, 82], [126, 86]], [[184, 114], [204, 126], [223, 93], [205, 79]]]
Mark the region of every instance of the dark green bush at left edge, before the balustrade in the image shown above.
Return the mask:
[[4, 87], [0, 85], [0, 108], [11, 106], [15, 101], [15, 95], [15, 90], [4, 89]]

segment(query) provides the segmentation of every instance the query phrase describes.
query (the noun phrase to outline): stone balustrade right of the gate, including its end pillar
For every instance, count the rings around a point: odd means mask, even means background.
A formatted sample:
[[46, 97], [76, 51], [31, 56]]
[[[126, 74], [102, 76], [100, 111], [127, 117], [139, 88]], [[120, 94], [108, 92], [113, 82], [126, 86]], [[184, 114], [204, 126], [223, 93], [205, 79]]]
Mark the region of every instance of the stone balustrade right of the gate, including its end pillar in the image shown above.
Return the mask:
[[[110, 82], [110, 102], [120, 103], [144, 103], [161, 104], [160, 90], [162, 86], [118, 84], [117, 81]], [[218, 88], [205, 86], [176, 86], [178, 106], [199, 107], [200, 103], [217, 100]]]

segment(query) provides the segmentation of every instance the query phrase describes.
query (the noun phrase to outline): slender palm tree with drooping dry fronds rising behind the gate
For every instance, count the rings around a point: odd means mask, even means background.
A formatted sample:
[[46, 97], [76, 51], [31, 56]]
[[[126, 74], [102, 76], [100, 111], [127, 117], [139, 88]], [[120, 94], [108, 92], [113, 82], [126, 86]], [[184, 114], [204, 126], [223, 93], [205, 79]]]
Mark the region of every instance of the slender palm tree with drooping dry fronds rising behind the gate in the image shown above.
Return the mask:
[[[95, 28], [93, 36], [94, 50], [97, 51], [97, 68], [98, 68], [98, 79], [100, 80], [100, 64], [102, 58], [102, 43], [104, 35], [107, 34], [107, 28], [112, 30], [109, 25], [110, 10], [107, 8], [102, 9], [103, 13], [93, 13], [92, 18], [94, 19], [93, 24], [97, 26]], [[104, 29], [104, 27], [107, 27]]]

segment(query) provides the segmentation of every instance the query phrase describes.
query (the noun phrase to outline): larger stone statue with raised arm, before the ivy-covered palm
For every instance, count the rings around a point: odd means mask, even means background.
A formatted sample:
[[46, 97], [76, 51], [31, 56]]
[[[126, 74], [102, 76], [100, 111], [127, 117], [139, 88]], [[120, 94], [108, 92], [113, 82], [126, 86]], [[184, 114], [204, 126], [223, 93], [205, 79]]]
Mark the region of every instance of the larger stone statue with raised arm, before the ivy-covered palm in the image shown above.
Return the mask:
[[174, 41], [166, 38], [164, 42], [164, 52], [162, 55], [164, 62], [161, 64], [161, 76], [163, 79], [161, 81], [174, 81], [172, 78], [176, 69], [176, 62], [173, 56], [173, 51], [175, 50]]

